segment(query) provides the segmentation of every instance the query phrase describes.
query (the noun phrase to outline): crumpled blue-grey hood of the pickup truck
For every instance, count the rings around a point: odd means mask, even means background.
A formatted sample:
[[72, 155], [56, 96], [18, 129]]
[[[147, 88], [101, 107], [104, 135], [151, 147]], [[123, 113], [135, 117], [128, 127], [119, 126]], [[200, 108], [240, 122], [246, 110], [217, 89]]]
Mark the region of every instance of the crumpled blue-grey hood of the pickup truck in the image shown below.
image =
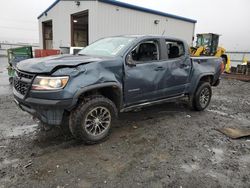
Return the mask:
[[17, 69], [30, 73], [52, 73], [59, 68], [75, 67], [80, 64], [98, 61], [102, 61], [102, 58], [77, 55], [57, 55], [21, 61], [17, 64]]

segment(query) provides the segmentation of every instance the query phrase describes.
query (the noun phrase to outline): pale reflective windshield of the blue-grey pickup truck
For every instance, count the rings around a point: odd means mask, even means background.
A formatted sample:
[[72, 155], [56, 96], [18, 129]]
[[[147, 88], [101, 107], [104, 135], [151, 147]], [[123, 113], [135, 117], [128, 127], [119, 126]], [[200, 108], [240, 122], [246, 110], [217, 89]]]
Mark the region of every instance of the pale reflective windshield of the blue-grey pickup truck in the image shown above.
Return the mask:
[[132, 41], [134, 37], [110, 37], [104, 38], [94, 42], [81, 50], [80, 55], [97, 55], [97, 56], [117, 56], [124, 50]]

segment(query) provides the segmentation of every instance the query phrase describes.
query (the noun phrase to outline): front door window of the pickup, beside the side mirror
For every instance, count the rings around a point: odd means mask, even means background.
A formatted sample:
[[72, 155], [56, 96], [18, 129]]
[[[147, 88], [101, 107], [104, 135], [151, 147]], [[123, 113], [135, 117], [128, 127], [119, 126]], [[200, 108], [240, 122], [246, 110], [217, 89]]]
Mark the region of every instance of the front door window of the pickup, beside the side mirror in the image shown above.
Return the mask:
[[138, 44], [131, 52], [132, 59], [136, 63], [159, 60], [159, 43], [156, 40], [147, 40]]

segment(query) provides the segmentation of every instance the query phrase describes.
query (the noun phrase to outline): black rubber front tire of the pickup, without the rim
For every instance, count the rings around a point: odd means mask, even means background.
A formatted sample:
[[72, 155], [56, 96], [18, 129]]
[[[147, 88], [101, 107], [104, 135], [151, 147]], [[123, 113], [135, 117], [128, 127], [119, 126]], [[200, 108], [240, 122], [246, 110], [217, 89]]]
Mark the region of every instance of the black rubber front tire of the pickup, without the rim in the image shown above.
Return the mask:
[[[102, 133], [101, 135], [93, 136], [86, 131], [84, 122], [85, 118], [87, 118], [88, 113], [96, 107], [105, 107], [109, 110], [111, 114], [111, 123], [104, 133]], [[74, 109], [70, 114], [70, 132], [78, 141], [82, 141], [85, 144], [97, 144], [99, 142], [103, 142], [108, 138], [111, 132], [112, 122], [114, 122], [116, 116], [117, 108], [111, 100], [101, 95], [85, 97], [83, 101], [78, 105], [78, 107]]]

